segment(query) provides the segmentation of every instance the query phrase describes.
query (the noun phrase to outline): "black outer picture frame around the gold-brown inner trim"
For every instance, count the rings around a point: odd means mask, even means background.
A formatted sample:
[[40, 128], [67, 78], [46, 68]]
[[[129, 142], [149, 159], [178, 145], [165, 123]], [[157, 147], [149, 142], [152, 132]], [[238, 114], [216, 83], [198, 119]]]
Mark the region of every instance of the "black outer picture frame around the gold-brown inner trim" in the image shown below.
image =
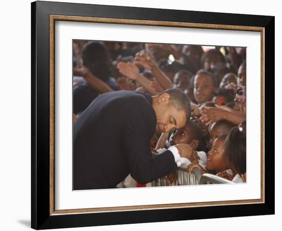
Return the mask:
[[[265, 202], [254, 204], [50, 213], [50, 15], [122, 18], [264, 28]], [[144, 16], [146, 15], [146, 16]], [[31, 227], [82, 227], [274, 214], [274, 16], [120, 7], [61, 2], [31, 3]]]

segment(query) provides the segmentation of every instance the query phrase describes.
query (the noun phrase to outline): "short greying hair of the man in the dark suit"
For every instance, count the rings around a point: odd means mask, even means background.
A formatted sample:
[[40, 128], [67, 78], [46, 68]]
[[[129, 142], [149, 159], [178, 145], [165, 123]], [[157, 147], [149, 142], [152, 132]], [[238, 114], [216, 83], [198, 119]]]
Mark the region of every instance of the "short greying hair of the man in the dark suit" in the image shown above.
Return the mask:
[[156, 96], [160, 96], [163, 93], [168, 93], [170, 95], [169, 104], [170, 106], [175, 107], [177, 110], [184, 110], [187, 121], [189, 121], [191, 117], [191, 103], [184, 91], [180, 89], [167, 89], [163, 92], [158, 93]]

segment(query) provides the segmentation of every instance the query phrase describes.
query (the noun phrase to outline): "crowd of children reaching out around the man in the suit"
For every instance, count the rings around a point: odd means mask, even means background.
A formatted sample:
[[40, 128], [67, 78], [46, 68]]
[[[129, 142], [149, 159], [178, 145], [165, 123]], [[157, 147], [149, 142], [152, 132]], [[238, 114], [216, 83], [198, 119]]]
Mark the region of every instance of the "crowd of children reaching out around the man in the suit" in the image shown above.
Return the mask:
[[74, 122], [108, 91], [182, 89], [191, 118], [183, 128], [156, 132], [152, 150], [189, 144], [198, 159], [183, 161], [188, 172], [246, 182], [246, 48], [74, 40], [73, 86]]

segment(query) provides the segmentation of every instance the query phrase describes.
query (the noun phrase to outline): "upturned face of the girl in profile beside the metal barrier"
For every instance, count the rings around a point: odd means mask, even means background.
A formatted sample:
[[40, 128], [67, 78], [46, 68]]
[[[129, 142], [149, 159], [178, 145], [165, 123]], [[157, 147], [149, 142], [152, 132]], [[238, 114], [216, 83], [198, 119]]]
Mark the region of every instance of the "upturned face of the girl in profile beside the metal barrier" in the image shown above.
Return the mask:
[[228, 167], [223, 162], [224, 140], [215, 139], [211, 150], [208, 152], [207, 169], [217, 172], [224, 171]]

